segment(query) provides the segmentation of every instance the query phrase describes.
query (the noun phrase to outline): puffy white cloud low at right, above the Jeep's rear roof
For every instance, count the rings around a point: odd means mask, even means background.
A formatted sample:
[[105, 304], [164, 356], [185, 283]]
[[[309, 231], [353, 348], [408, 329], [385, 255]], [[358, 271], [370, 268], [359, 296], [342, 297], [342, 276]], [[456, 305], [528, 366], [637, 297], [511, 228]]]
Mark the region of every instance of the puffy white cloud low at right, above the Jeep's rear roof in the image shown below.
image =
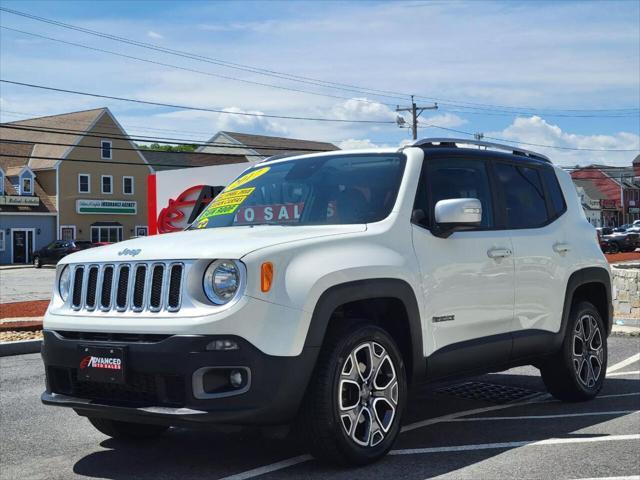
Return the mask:
[[[564, 166], [588, 165], [592, 163], [630, 166], [633, 158], [640, 150], [640, 136], [637, 134], [619, 132], [614, 135], [579, 135], [565, 132], [558, 125], [553, 125], [537, 115], [516, 118], [513, 123], [504, 130], [488, 132], [485, 133], [485, 135], [487, 137], [496, 137], [518, 142], [566, 148], [568, 150], [521, 145], [523, 148], [544, 153], [555, 163]], [[635, 151], [598, 152], [570, 150], [572, 148], [595, 150], [635, 149]]]

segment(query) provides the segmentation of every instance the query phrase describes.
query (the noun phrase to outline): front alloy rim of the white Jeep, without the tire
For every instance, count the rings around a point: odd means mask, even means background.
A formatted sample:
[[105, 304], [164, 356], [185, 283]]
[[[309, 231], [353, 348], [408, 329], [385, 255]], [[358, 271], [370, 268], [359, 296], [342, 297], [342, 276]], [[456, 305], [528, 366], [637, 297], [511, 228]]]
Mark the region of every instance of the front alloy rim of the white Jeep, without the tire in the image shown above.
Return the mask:
[[355, 347], [340, 370], [338, 408], [347, 436], [361, 447], [375, 447], [389, 432], [398, 407], [396, 366], [377, 342]]

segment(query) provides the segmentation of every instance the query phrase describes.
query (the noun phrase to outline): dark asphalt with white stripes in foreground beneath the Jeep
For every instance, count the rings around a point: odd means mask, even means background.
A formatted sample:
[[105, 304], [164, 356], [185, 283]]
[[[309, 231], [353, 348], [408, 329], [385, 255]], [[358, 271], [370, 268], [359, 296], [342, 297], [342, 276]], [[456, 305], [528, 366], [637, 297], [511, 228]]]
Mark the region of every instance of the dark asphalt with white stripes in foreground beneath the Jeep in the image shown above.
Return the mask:
[[45, 407], [38, 354], [0, 358], [4, 479], [586, 479], [640, 474], [640, 339], [609, 339], [601, 395], [564, 404], [538, 371], [512, 369], [414, 392], [394, 450], [363, 468], [311, 459], [257, 429], [172, 429], [122, 444], [68, 409]]

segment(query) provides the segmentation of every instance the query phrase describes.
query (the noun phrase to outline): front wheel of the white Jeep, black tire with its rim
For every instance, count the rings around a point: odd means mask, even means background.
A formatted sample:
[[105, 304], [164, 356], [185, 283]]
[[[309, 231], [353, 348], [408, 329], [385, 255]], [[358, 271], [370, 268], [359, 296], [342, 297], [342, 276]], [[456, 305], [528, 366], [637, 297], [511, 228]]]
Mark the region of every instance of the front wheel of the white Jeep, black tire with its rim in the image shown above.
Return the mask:
[[[362, 371], [372, 349], [371, 367], [365, 365]], [[350, 362], [357, 370], [349, 369]], [[365, 372], [375, 373], [368, 373], [365, 381]], [[300, 410], [300, 437], [320, 460], [337, 465], [372, 463], [386, 455], [400, 433], [406, 397], [404, 361], [394, 340], [379, 327], [350, 322], [325, 338]], [[351, 403], [345, 405], [345, 399]], [[349, 408], [341, 410], [341, 406]], [[353, 416], [362, 422], [352, 423], [349, 417]]]

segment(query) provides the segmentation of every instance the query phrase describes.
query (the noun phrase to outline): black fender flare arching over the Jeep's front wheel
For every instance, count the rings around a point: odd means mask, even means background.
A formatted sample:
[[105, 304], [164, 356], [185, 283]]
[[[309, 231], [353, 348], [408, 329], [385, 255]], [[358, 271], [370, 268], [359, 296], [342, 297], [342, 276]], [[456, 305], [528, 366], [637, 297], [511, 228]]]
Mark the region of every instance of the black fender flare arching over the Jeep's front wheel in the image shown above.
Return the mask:
[[426, 362], [422, 347], [422, 323], [416, 295], [411, 286], [397, 278], [357, 280], [334, 285], [325, 290], [313, 310], [305, 347], [320, 348], [333, 312], [341, 305], [358, 300], [394, 298], [400, 300], [409, 319], [412, 378], [424, 378]]

